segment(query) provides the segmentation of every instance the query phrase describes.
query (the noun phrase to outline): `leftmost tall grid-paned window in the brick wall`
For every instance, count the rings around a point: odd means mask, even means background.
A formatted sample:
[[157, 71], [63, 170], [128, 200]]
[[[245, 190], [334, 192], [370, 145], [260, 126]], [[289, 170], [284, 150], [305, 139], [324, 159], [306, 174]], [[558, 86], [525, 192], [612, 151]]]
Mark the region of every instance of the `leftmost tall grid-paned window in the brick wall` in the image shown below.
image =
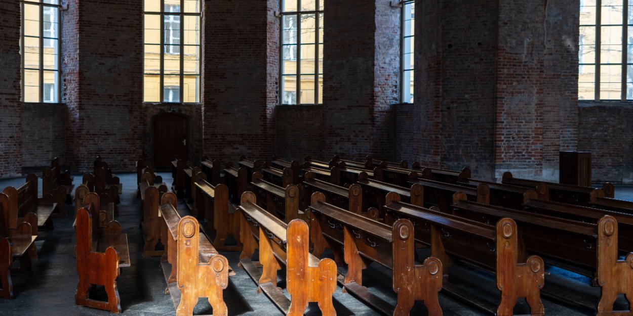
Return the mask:
[[59, 102], [58, 0], [22, 1], [22, 100]]

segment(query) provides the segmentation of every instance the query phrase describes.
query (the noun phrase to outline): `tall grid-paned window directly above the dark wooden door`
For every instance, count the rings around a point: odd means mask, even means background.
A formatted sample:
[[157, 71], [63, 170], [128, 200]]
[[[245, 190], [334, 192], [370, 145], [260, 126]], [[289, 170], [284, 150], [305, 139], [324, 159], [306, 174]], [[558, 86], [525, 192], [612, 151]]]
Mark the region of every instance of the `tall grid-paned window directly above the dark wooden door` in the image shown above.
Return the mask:
[[144, 102], [200, 102], [200, 1], [145, 0]]

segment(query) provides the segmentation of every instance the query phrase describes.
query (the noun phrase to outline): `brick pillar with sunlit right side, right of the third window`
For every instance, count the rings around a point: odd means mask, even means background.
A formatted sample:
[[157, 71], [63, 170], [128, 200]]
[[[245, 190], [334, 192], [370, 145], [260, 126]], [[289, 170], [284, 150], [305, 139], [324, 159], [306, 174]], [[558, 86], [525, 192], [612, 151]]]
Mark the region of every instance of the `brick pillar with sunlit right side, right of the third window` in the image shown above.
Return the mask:
[[325, 0], [324, 158], [393, 159], [399, 30], [400, 11], [387, 0]]

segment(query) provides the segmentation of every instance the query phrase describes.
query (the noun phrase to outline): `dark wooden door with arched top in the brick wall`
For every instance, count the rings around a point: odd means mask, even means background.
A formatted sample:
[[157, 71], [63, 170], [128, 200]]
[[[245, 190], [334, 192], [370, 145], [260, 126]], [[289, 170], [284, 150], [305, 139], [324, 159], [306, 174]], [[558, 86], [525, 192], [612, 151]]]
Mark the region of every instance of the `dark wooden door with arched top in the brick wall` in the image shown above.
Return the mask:
[[173, 156], [189, 160], [189, 124], [179, 114], [159, 114], [154, 118], [154, 164], [157, 168], [172, 166]]

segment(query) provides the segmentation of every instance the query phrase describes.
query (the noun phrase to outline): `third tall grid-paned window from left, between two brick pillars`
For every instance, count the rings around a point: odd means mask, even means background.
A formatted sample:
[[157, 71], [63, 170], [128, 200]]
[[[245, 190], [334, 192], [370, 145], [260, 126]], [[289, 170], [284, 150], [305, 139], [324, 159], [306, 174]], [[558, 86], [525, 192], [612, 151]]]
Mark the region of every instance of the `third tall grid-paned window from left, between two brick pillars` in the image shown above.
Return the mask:
[[281, 0], [281, 104], [323, 102], [323, 0]]

